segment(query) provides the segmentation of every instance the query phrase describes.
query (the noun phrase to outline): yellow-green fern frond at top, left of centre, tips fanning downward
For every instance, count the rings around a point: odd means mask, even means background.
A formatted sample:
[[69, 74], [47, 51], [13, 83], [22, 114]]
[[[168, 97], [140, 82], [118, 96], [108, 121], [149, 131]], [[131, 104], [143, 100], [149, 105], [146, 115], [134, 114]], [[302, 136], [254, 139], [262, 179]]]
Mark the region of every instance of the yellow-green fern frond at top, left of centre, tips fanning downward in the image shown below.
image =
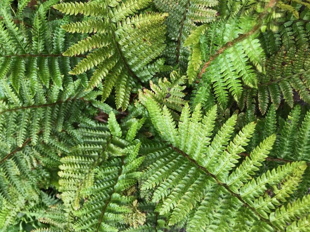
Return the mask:
[[[78, 75], [97, 67], [87, 89], [103, 82], [102, 100], [107, 99], [115, 88], [117, 108], [126, 109], [134, 83], [145, 77], [141, 73], [165, 48], [163, 43], [167, 14], [141, 12], [150, 1], [60, 3], [55, 9], [69, 14], [100, 16], [98, 20], [84, 17], [82, 22], [64, 25], [68, 32], [94, 33], [64, 52], [66, 56], [92, 51], [70, 74]], [[159, 68], [164, 68], [163, 65]], [[159, 70], [158, 70], [159, 71]]]

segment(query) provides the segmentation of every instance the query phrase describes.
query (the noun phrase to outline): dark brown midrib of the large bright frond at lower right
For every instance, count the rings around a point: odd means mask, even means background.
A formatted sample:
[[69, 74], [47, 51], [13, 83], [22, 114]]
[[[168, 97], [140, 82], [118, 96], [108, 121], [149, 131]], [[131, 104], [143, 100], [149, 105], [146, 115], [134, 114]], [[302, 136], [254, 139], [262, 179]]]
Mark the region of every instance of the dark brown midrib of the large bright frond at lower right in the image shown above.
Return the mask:
[[203, 171], [204, 173], [206, 173], [208, 176], [212, 177], [220, 186], [223, 186], [232, 196], [236, 197], [239, 201], [241, 201], [241, 203], [242, 203], [245, 207], [247, 207], [247, 208], [249, 208], [250, 210], [252, 210], [253, 213], [255, 213], [255, 214], [259, 217], [259, 219], [260, 219], [261, 221], [264, 221], [264, 222], [267, 223], [269, 226], [271, 226], [275, 231], [277, 231], [277, 228], [276, 228], [275, 226], [273, 226], [272, 223], [271, 223], [269, 220], [267, 220], [266, 218], [262, 217], [262, 216], [255, 210], [255, 208], [251, 207], [248, 203], [246, 203], [246, 202], [242, 199], [242, 197], [241, 197], [239, 194], [233, 192], [233, 191], [229, 188], [229, 186], [228, 186], [227, 184], [220, 182], [219, 179], [218, 179], [214, 174], [210, 173], [205, 167], [199, 165], [199, 164], [197, 163], [196, 160], [194, 160], [194, 159], [192, 159], [191, 157], [189, 157], [188, 154], [184, 153], [184, 152], [181, 151], [179, 148], [176, 148], [176, 147], [172, 146], [171, 144], [169, 145], [169, 147], [172, 148], [173, 150], [175, 150], [177, 153], [181, 154], [183, 157], [187, 158], [188, 161], [190, 161], [191, 163], [193, 163], [197, 168], [199, 168], [200, 170], [202, 170], [202, 171]]

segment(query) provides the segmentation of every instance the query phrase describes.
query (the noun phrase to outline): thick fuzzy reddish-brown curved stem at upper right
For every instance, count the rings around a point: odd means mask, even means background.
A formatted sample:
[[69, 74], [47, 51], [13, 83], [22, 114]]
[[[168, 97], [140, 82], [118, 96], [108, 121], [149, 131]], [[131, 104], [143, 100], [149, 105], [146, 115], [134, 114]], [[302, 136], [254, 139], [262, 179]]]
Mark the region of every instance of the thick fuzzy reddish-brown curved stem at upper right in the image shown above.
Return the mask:
[[262, 24], [262, 19], [264, 18], [264, 16], [267, 14], [267, 10], [269, 8], [273, 8], [276, 3], [277, 3], [278, 0], [270, 0], [270, 2], [268, 3], [268, 5], [265, 6], [265, 10], [263, 11], [263, 13], [261, 13], [259, 15], [259, 23], [256, 24], [252, 30], [250, 30], [249, 32], [243, 34], [243, 35], [240, 35], [239, 37], [237, 37], [236, 39], [234, 39], [233, 41], [231, 42], [228, 42], [225, 46], [223, 46], [222, 48], [220, 48], [213, 56], [210, 57], [210, 59], [203, 65], [200, 73], [198, 74], [198, 78], [200, 79], [201, 78], [201, 75], [206, 71], [206, 68], [210, 65], [210, 63], [215, 59], [217, 58], [220, 54], [222, 54], [226, 49], [232, 47], [233, 45], [239, 43], [240, 41], [250, 37], [252, 34], [254, 34], [255, 32], [257, 32]]

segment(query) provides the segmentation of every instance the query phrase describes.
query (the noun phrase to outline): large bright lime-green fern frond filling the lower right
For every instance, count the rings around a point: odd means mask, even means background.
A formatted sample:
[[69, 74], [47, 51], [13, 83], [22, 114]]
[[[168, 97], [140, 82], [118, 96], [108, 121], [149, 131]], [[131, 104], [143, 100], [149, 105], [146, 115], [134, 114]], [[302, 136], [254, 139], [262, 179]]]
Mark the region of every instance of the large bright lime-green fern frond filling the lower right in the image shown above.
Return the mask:
[[[177, 173], [173, 169], [166, 170], [166, 165], [170, 166], [170, 164], [165, 162], [164, 159], [157, 164], [161, 166], [160, 169], [158, 169], [157, 165], [149, 166], [148, 172], [152, 173], [153, 168], [156, 168], [158, 171], [153, 172], [152, 175], [148, 174], [147, 185], [144, 184], [142, 186], [142, 189], [157, 186], [153, 194], [153, 201], [162, 200], [162, 203], [157, 207], [160, 214], [171, 212], [170, 225], [182, 221], [186, 215], [193, 215], [192, 220], [194, 221], [191, 222], [191, 218], [188, 219], [188, 225], [191, 226], [187, 230], [197, 231], [195, 229], [197, 226], [214, 228], [215, 225], [213, 223], [221, 220], [221, 217], [226, 217], [226, 219], [229, 217], [228, 215], [232, 217], [234, 212], [241, 210], [238, 208], [244, 207], [249, 210], [248, 213], [251, 220], [242, 226], [250, 229], [260, 222], [268, 231], [284, 230], [286, 224], [279, 224], [277, 220], [273, 219], [273, 213], [276, 213], [274, 205], [280, 204], [280, 201], [286, 201], [286, 198], [290, 196], [292, 190], [296, 189], [301, 181], [302, 174], [307, 166], [304, 162], [288, 163], [282, 168], [279, 166], [277, 169], [268, 171], [267, 174], [259, 176], [256, 180], [252, 179], [251, 176], [259, 170], [275, 142], [276, 136], [274, 134], [263, 140], [230, 173], [229, 171], [236, 166], [237, 160], [241, 158], [238, 154], [245, 151], [244, 146], [247, 145], [249, 138], [254, 132], [255, 123], [247, 124], [233, 140], [230, 140], [237, 118], [236, 115], [233, 115], [223, 124], [212, 142], [210, 142], [212, 127], [210, 128], [206, 121], [210, 121], [211, 125], [214, 124], [215, 107], [204, 118], [201, 118], [199, 105], [196, 106], [191, 116], [188, 112], [188, 105], [185, 105], [182, 110], [178, 130], [175, 128], [175, 122], [173, 122], [171, 116], [166, 113], [167, 108], [165, 106], [161, 109], [155, 101], [149, 98], [146, 108], [154, 127], [162, 139], [167, 141], [169, 149], [183, 160], [184, 165], [186, 164], [186, 171], [178, 174], [181, 175], [177, 177], [180, 179], [180, 182], [175, 182], [173, 188], [170, 185], [170, 178], [172, 176], [176, 178], [175, 175]], [[201, 120], [204, 120], [203, 124], [200, 122]], [[193, 134], [191, 128], [195, 127], [197, 130]], [[198, 134], [199, 137], [195, 137], [195, 134]], [[184, 136], [186, 138], [182, 140], [181, 137]], [[175, 160], [174, 162], [177, 161]], [[288, 171], [289, 169], [292, 171]], [[283, 180], [285, 181], [283, 182]], [[283, 185], [280, 184], [281, 182], [283, 182]], [[274, 186], [274, 199], [277, 201], [270, 199], [268, 195], [264, 196], [264, 191], [267, 190], [267, 183]], [[164, 186], [167, 185], [170, 188], [164, 190]], [[203, 202], [205, 197], [207, 197], [208, 189], [214, 188], [217, 185], [221, 189], [223, 201], [229, 199], [230, 203], [223, 203], [228, 208], [220, 210], [217, 213], [219, 215], [209, 215], [208, 217], [208, 212], [203, 211], [207, 209]], [[195, 197], [193, 197], [193, 194], [195, 194]], [[199, 207], [200, 204], [201, 206]], [[197, 207], [196, 205], [198, 205], [197, 212], [191, 213], [193, 208]], [[295, 209], [297, 210], [297, 208]], [[226, 211], [231, 213], [224, 213]], [[223, 212], [223, 215], [221, 215], [221, 212]], [[305, 212], [302, 215], [308, 217]], [[283, 222], [291, 223], [291, 220], [296, 221], [296, 216], [293, 213], [289, 220], [283, 218]], [[233, 222], [232, 218], [227, 221], [230, 221], [230, 223], [224, 227], [225, 231], [228, 231], [231, 226], [237, 226], [234, 223], [241, 223], [239, 219], [237, 222]], [[223, 225], [225, 224], [221, 223], [221, 226]]]

